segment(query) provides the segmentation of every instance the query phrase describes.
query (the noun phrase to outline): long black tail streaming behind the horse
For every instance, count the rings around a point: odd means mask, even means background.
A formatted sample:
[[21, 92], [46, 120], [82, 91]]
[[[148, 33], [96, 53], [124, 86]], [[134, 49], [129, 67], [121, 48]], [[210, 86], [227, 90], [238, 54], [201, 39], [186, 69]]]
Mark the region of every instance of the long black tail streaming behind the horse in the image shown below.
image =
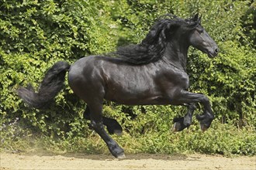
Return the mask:
[[28, 87], [19, 87], [17, 93], [29, 107], [43, 108], [53, 101], [57, 93], [64, 87], [65, 74], [70, 65], [67, 62], [59, 61], [54, 64], [43, 78], [38, 93], [29, 85]]

